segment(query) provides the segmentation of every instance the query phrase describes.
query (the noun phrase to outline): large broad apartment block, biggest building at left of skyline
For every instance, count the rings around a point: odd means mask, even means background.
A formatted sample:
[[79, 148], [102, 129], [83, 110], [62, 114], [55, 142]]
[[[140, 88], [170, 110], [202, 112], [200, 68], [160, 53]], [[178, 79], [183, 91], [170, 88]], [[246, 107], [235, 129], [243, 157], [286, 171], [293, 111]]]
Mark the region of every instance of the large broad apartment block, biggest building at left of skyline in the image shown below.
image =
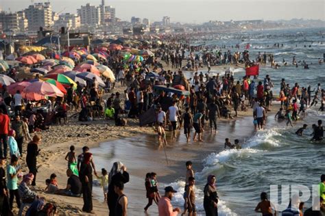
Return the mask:
[[25, 16], [28, 20], [29, 30], [36, 30], [40, 27], [49, 28], [54, 24], [50, 2], [29, 5], [29, 7], [25, 9]]

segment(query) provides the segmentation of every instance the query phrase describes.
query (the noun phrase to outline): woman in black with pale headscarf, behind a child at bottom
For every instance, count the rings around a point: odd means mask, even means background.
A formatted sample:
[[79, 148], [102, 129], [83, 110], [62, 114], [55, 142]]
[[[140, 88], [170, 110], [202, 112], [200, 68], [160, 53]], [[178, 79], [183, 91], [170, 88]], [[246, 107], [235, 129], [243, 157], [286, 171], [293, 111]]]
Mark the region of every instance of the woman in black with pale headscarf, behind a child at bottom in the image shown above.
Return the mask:
[[110, 210], [110, 216], [115, 216], [115, 206], [119, 195], [114, 191], [115, 183], [122, 182], [128, 183], [130, 176], [126, 172], [126, 167], [121, 162], [113, 163], [110, 174], [108, 174], [108, 193], [107, 193], [107, 204]]

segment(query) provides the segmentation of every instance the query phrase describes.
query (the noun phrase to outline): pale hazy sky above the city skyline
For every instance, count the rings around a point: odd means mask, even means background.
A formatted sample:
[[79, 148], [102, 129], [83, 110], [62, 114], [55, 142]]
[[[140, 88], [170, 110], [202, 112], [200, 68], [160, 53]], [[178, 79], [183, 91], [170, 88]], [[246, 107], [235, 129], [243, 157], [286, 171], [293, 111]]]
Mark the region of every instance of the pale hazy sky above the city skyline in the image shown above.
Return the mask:
[[[101, 0], [50, 0], [56, 12], [74, 12], [80, 5], [99, 5]], [[31, 0], [0, 0], [3, 10], [27, 8]], [[45, 0], [34, 0], [34, 3]], [[116, 8], [117, 17], [130, 21], [131, 16], [171, 22], [202, 23], [210, 20], [230, 21], [312, 18], [325, 21], [325, 0], [106, 0]]]

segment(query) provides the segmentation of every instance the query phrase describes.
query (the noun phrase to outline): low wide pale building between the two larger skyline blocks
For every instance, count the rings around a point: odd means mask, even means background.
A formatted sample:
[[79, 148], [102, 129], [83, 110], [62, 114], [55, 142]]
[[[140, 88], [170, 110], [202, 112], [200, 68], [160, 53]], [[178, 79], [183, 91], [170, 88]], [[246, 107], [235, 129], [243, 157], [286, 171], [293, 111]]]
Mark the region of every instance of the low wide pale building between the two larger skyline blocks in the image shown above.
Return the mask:
[[81, 25], [80, 16], [77, 14], [60, 14], [58, 21], [54, 23], [55, 29], [79, 29]]

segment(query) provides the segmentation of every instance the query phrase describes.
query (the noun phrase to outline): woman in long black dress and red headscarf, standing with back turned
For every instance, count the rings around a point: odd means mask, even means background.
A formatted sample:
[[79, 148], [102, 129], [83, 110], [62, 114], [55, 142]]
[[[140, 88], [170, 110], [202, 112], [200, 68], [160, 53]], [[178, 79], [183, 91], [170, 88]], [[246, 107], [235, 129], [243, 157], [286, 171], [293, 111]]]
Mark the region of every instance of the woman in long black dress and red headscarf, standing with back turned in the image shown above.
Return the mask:
[[92, 159], [93, 154], [91, 154], [91, 152], [84, 153], [84, 160], [80, 165], [79, 178], [82, 183], [82, 198], [84, 199], [84, 206], [82, 206], [82, 211], [93, 214], [93, 168], [91, 167]]

